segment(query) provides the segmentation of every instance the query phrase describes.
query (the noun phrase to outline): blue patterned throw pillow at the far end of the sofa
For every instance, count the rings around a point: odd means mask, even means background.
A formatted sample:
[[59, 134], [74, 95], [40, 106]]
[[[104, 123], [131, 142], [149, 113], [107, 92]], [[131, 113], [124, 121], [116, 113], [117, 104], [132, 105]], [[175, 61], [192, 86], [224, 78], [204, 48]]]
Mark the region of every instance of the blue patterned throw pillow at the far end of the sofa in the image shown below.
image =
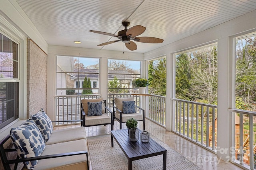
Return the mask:
[[38, 111], [38, 113], [32, 115], [30, 119], [36, 123], [38, 129], [41, 131], [44, 142], [48, 141], [52, 134], [53, 126], [51, 119], [44, 112], [44, 110], [41, 109], [40, 111]]

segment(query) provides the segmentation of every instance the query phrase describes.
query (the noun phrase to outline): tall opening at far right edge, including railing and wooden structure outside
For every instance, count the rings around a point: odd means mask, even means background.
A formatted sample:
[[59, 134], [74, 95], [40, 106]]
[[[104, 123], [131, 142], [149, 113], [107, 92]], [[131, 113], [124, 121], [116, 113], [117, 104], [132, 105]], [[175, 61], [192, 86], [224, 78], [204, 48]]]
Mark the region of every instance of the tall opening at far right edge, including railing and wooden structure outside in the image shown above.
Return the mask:
[[[256, 167], [256, 36], [255, 33], [236, 38], [235, 107], [240, 112], [234, 119], [235, 161], [243, 161], [247, 167]], [[242, 111], [241, 111], [242, 110]], [[239, 119], [242, 118], [242, 122]], [[252, 123], [252, 129], [250, 129]], [[240, 128], [242, 127], [242, 131]], [[252, 140], [250, 139], [252, 137]], [[242, 140], [242, 145], [240, 145]], [[252, 145], [251, 145], [252, 144]], [[244, 154], [240, 154], [240, 148]], [[251, 152], [252, 151], [252, 152]], [[242, 156], [243, 155], [243, 156]], [[254, 161], [246, 161], [253, 155]], [[247, 157], [246, 157], [247, 156]], [[237, 163], [240, 163], [237, 161]], [[246, 167], [246, 168], [247, 168]]]

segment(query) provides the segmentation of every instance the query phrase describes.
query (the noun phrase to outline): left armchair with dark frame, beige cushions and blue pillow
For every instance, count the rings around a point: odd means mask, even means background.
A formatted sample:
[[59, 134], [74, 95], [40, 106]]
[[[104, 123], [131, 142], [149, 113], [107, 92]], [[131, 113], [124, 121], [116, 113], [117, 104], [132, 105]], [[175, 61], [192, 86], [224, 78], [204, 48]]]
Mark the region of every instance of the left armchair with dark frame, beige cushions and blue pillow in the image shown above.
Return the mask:
[[[94, 107], [88, 106], [88, 103], [98, 103], [102, 102], [102, 112], [100, 115], [94, 114], [96, 109]], [[91, 110], [90, 110], [91, 109]], [[108, 116], [108, 112], [110, 112], [110, 116]], [[98, 110], [96, 111], [98, 112]], [[92, 115], [90, 115], [92, 113]], [[82, 99], [81, 100], [81, 115], [83, 118], [82, 125], [84, 127], [89, 126], [98, 126], [98, 125], [111, 125], [111, 130], [113, 130], [113, 112], [106, 106], [106, 100], [103, 101], [103, 98], [99, 99]]]

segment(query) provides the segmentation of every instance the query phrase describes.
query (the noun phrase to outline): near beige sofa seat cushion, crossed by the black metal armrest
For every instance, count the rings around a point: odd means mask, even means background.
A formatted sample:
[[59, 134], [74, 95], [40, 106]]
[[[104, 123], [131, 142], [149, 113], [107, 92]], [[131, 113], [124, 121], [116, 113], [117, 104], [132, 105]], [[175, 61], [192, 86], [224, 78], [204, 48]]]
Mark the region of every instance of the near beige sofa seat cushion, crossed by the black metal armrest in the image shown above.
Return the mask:
[[[41, 156], [88, 150], [85, 139], [47, 145]], [[89, 167], [90, 156], [88, 154]], [[34, 170], [87, 170], [86, 154], [38, 160]]]

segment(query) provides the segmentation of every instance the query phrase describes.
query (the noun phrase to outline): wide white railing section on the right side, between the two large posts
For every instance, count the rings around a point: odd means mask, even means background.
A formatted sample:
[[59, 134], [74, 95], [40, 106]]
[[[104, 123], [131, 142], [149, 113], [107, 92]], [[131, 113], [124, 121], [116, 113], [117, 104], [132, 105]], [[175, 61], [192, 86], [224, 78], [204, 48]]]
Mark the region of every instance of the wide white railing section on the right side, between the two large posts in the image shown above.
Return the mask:
[[215, 151], [217, 106], [187, 100], [172, 100], [175, 104], [174, 132]]

